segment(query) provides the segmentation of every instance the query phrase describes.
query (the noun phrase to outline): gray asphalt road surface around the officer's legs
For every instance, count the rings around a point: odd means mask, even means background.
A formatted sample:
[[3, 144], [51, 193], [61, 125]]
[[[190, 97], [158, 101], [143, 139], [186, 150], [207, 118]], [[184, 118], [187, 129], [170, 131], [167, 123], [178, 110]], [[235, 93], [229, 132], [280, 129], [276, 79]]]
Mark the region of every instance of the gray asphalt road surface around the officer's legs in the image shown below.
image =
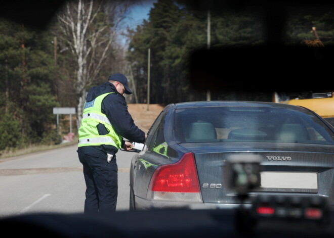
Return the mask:
[[[85, 180], [77, 146], [0, 159], [0, 217], [36, 212], [82, 213]], [[116, 211], [129, 210], [132, 152], [119, 151]]]

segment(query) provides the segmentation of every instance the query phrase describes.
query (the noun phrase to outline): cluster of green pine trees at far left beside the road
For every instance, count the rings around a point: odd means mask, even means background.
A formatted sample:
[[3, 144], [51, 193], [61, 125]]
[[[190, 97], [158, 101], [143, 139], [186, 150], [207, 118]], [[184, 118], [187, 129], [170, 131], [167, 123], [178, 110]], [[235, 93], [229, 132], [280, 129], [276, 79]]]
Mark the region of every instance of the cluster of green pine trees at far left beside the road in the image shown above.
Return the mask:
[[[6, 20], [0, 21], [0, 32], [0, 90], [5, 96], [0, 105], [5, 113], [0, 115], [0, 120], [3, 120], [3, 131], [7, 131], [2, 139], [8, 141], [2, 143], [4, 149], [22, 146], [20, 143], [24, 141], [26, 144], [41, 141], [51, 132], [50, 125], [55, 119], [52, 108], [57, 105], [56, 70], [46, 32], [36, 32]], [[33, 99], [38, 90], [44, 97]], [[38, 117], [43, 117], [43, 123]], [[15, 136], [20, 132], [15, 143], [9, 130]]]

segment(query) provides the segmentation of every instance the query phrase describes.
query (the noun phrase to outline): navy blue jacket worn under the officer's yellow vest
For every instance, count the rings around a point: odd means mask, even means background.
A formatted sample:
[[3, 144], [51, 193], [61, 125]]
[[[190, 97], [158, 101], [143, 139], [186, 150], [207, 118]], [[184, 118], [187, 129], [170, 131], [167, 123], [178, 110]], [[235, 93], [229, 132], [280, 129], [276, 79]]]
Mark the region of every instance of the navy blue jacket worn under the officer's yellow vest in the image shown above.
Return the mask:
[[[92, 87], [87, 94], [86, 101], [90, 102], [98, 96], [108, 92], [115, 93], [110, 93], [103, 99], [101, 111], [106, 114], [116, 133], [130, 141], [144, 143], [145, 132], [140, 130], [134, 123], [134, 120], [128, 111], [127, 102], [116, 90], [115, 85], [107, 81]], [[98, 128], [99, 133], [106, 134], [106, 132], [103, 132], [104, 129], [104, 125], [103, 128]]]

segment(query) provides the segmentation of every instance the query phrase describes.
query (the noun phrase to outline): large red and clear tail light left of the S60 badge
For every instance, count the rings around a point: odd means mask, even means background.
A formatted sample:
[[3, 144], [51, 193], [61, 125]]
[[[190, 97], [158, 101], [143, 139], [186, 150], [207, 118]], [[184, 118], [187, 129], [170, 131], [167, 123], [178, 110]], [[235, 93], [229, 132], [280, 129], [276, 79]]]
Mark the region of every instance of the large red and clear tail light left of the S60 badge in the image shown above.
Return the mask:
[[175, 164], [158, 167], [151, 179], [148, 199], [201, 202], [193, 153], [186, 153]]

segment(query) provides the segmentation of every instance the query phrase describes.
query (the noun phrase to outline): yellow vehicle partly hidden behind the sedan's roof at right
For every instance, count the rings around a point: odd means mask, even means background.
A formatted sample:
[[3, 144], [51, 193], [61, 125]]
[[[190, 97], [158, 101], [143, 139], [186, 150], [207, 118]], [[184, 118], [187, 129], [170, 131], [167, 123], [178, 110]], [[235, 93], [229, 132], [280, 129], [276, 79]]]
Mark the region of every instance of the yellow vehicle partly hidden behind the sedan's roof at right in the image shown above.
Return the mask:
[[334, 126], [334, 92], [275, 93], [274, 102], [308, 108]]

